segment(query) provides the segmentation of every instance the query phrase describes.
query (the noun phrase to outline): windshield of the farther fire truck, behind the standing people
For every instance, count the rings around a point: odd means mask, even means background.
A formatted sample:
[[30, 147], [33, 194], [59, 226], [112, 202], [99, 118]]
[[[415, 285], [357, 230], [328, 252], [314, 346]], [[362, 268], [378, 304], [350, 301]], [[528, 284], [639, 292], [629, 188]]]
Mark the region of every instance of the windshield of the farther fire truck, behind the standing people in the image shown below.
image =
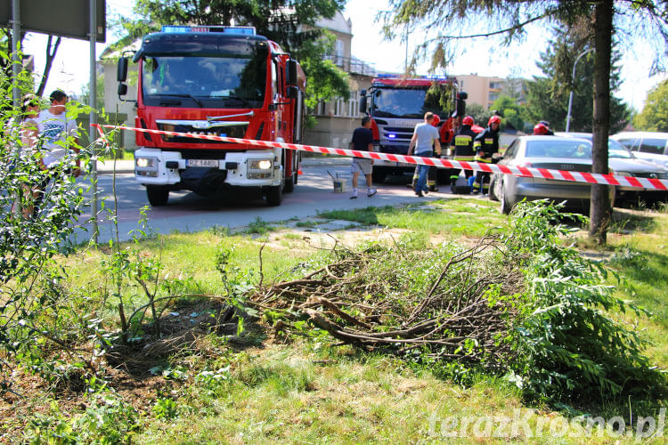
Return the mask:
[[373, 117], [421, 118], [428, 111], [447, 117], [436, 97], [428, 96], [426, 89], [379, 88], [372, 95], [371, 107]]

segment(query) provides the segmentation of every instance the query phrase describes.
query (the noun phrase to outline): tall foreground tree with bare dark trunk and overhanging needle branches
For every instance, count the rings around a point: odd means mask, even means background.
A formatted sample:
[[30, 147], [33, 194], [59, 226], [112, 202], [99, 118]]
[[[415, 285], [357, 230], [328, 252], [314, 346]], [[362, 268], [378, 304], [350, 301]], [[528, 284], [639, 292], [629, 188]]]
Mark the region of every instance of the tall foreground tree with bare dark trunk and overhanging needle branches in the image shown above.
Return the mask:
[[[421, 28], [430, 36], [420, 44], [416, 54], [420, 56], [430, 49], [432, 67], [447, 65], [452, 59], [452, 42], [462, 38], [506, 36], [509, 42], [525, 34], [531, 23], [550, 22], [574, 24], [586, 23], [586, 29], [594, 48], [593, 56], [593, 160], [592, 172], [607, 174], [607, 135], [610, 132], [610, 72], [615, 19], [617, 28], [629, 32], [620, 36], [631, 44], [636, 32], [648, 39], [668, 46], [668, 2], [664, 0], [389, 0], [390, 11], [382, 14], [388, 37], [396, 36], [403, 29]], [[481, 24], [481, 18], [488, 20]], [[468, 32], [475, 23], [480, 32]], [[646, 50], [643, 47], [642, 50]], [[664, 51], [657, 54], [664, 55]], [[659, 57], [660, 57], [659, 56]], [[612, 215], [607, 185], [591, 187], [590, 238], [602, 245], [607, 240], [607, 227]]]

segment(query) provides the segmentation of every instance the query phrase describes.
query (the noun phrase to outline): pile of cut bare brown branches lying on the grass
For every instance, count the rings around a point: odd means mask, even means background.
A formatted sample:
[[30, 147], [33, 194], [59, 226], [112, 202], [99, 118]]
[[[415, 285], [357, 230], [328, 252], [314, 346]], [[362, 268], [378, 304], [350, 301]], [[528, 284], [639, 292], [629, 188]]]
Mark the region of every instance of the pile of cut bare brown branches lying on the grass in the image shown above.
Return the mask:
[[[430, 249], [336, 245], [327, 263], [300, 279], [260, 286], [249, 303], [281, 331], [309, 320], [346, 344], [435, 359], [509, 359], [504, 342], [524, 279], [495, 237], [473, 247]], [[510, 296], [510, 297], [509, 297]], [[303, 323], [302, 323], [303, 324]]]

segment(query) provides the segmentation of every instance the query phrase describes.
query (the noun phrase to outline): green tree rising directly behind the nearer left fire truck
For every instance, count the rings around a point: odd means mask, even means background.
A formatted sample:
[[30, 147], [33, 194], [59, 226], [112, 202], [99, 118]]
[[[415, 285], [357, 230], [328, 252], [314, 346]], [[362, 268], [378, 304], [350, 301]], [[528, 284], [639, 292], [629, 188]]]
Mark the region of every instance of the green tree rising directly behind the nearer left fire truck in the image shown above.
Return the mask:
[[307, 85], [314, 85], [307, 92], [311, 101], [347, 98], [346, 74], [323, 61], [331, 51], [330, 38], [315, 26], [317, 20], [334, 17], [345, 4], [346, 0], [135, 0], [134, 15], [142, 19], [120, 19], [127, 36], [118, 44], [129, 44], [162, 25], [254, 26], [257, 34], [281, 44], [302, 64]]

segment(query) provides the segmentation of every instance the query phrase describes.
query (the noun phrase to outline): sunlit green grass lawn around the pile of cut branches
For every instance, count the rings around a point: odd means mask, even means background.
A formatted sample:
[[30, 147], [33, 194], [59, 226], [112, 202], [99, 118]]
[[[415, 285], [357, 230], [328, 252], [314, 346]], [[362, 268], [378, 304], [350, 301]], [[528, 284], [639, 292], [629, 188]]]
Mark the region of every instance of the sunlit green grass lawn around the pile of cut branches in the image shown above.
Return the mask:
[[[354, 242], [355, 236], [362, 240], [375, 228], [395, 231], [397, 239], [420, 240], [423, 246], [470, 244], [503, 231], [507, 221], [495, 203], [467, 198], [319, 217], [363, 224], [330, 233], [342, 242]], [[258, 220], [238, 233], [175, 233], [126, 247], [132, 255], [159, 258], [159, 275], [180, 280], [181, 287], [172, 291], [200, 295], [166, 311], [191, 312], [198, 303], [226, 294], [221, 271], [257, 284], [260, 279], [297, 279], [320, 267], [327, 249], [314, 242], [317, 225]], [[668, 368], [668, 213], [615, 210], [605, 250], [592, 249], [582, 231], [572, 241], [606, 265], [610, 273], [601, 284], [614, 286], [615, 296], [652, 313], [614, 316], [647, 338], [649, 359]], [[97, 317], [118, 323], [116, 297], [98, 296], [102, 288], [113, 287], [100, 267], [108, 254], [82, 251], [64, 263], [77, 271], [70, 273], [68, 286], [91, 295]], [[122, 295], [128, 307], [146, 298], [136, 285], [124, 288]], [[94, 426], [97, 431], [130, 432], [125, 437], [136, 443], [635, 443], [638, 437], [628, 434], [636, 432], [640, 417], [647, 417], [641, 421], [645, 432], [651, 421], [656, 427], [664, 421], [666, 401], [549, 406], [523, 400], [517, 386], [501, 376], [470, 370], [453, 378], [452, 373], [336, 343], [308, 329], [278, 336], [266, 324], [227, 336], [201, 336], [191, 348], [155, 362], [135, 363], [129, 370], [118, 366], [110, 372], [111, 381], [122, 384], [111, 395], [107, 390], [95, 392], [97, 399], [81, 392], [33, 391], [35, 397], [13, 399], [11, 407], [3, 402], [0, 414], [13, 414], [0, 424], [0, 440], [20, 437], [17, 428], [25, 428], [24, 440], [39, 436], [65, 442], [53, 435], [61, 425], [60, 437], [84, 434]], [[600, 423], [609, 429], [591, 427]], [[78, 437], [94, 437], [90, 434]], [[663, 443], [664, 433], [643, 441]]]

